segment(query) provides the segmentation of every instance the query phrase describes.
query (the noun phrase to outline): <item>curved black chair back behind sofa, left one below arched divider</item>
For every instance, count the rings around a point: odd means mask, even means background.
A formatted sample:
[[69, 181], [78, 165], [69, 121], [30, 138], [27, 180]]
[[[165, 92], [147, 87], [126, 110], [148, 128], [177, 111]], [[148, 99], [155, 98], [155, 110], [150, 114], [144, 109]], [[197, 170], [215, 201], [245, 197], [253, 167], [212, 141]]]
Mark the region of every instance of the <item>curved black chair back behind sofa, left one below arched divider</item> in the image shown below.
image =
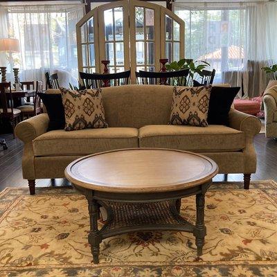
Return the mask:
[[80, 79], [86, 89], [99, 89], [100, 87], [116, 87], [129, 84], [131, 71], [118, 73], [85, 73], [80, 72]]

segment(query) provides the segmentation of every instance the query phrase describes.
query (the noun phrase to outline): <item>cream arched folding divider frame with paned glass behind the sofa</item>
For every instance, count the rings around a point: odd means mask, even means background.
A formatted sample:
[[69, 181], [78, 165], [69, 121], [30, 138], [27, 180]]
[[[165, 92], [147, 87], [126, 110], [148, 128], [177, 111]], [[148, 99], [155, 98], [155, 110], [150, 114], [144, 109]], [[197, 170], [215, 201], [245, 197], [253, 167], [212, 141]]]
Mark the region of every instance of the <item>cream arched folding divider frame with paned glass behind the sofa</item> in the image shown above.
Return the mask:
[[[134, 71], [136, 71], [136, 66], [138, 62], [136, 62], [136, 20], [135, 20], [135, 7], [142, 8], [150, 8], [154, 10], [154, 69], [159, 71], [160, 64], [159, 59], [166, 57], [166, 15], [170, 17], [173, 21], [176, 21], [179, 26], [179, 57], [184, 57], [184, 21], [180, 19], [174, 12], [160, 6], [156, 3], [149, 3], [145, 1], [139, 0], [122, 0], [122, 1], [114, 1], [111, 3], [106, 3], [100, 5], [93, 10], [89, 11], [80, 21], [76, 24], [76, 34], [77, 34], [77, 45], [78, 45], [78, 69], [79, 71], [88, 71], [91, 72], [91, 68], [93, 67], [96, 72], [101, 73], [101, 64], [100, 60], [107, 60], [107, 50], [105, 41], [105, 18], [104, 11], [112, 8], [123, 7], [123, 45], [124, 45], [124, 69], [131, 69], [132, 75]], [[93, 17], [93, 42], [81, 42], [81, 28], [84, 24]], [[84, 28], [84, 27], [83, 27]], [[89, 30], [86, 27], [86, 30]], [[172, 30], [173, 32], [173, 30]], [[88, 36], [88, 34], [86, 34]], [[145, 41], [146, 42], [146, 41]], [[116, 51], [116, 41], [112, 42], [114, 44], [114, 51]], [[91, 44], [94, 44], [94, 53], [91, 53]], [[146, 45], [146, 44], [145, 44]], [[171, 50], [173, 51], [173, 44], [171, 44]], [[84, 49], [87, 49], [85, 51]], [[143, 55], [148, 55], [148, 49], [144, 48]], [[173, 52], [172, 52], [173, 53]], [[83, 55], [87, 55], [83, 59]], [[93, 59], [95, 59], [95, 65], [91, 66], [89, 64], [91, 62], [91, 56], [93, 55]], [[116, 53], [114, 55], [117, 55]], [[87, 64], [83, 64], [83, 62], [87, 59]], [[89, 65], [88, 65], [89, 64]], [[111, 65], [113, 66], [113, 65]], [[144, 66], [147, 66], [146, 64]], [[116, 69], [116, 65], [113, 66], [114, 70]], [[122, 65], [121, 65], [122, 67]], [[135, 82], [135, 78], [133, 75], [132, 83]]]

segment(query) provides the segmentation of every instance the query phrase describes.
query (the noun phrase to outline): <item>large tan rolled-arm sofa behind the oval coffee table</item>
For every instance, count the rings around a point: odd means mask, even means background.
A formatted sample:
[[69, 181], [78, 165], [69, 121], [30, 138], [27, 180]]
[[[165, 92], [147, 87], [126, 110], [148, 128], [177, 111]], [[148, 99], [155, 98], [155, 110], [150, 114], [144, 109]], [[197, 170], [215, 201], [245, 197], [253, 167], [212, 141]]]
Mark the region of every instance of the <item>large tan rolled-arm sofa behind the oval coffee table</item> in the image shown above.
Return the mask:
[[109, 124], [106, 129], [47, 132], [47, 114], [17, 125], [16, 134], [24, 142], [23, 177], [28, 179], [31, 193], [35, 193], [35, 179], [64, 177], [64, 168], [74, 159], [116, 148], [139, 147], [204, 154], [217, 162], [220, 173], [244, 173], [244, 188], [249, 187], [250, 175], [256, 172], [253, 136], [260, 131], [258, 118], [231, 109], [229, 127], [172, 126], [167, 125], [172, 87], [108, 87], [102, 89], [102, 96]]

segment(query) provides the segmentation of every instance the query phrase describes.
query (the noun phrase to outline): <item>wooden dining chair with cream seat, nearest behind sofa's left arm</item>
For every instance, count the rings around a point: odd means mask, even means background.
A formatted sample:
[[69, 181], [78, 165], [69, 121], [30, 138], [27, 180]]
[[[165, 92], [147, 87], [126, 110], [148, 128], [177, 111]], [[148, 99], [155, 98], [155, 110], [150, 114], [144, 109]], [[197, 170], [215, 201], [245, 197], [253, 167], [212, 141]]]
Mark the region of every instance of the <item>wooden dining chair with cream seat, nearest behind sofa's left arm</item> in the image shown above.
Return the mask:
[[41, 113], [41, 111], [42, 111], [41, 100], [37, 93], [42, 93], [42, 92], [43, 92], [43, 82], [37, 81], [34, 105], [23, 105], [23, 106], [17, 107], [17, 109], [20, 109], [20, 111], [21, 111], [21, 119], [22, 120], [24, 119], [24, 117], [29, 118], [29, 117], [36, 116], [37, 114]]

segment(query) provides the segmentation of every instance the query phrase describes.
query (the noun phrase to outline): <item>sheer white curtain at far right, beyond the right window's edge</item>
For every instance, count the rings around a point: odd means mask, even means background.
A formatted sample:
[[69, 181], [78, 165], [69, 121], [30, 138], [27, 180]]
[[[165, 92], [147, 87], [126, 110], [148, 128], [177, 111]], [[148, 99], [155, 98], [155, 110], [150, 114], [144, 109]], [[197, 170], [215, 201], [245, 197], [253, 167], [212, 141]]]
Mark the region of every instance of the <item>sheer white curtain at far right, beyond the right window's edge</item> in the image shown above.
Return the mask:
[[277, 62], [277, 3], [245, 5], [247, 15], [244, 88], [249, 97], [261, 94], [270, 76], [263, 66]]

